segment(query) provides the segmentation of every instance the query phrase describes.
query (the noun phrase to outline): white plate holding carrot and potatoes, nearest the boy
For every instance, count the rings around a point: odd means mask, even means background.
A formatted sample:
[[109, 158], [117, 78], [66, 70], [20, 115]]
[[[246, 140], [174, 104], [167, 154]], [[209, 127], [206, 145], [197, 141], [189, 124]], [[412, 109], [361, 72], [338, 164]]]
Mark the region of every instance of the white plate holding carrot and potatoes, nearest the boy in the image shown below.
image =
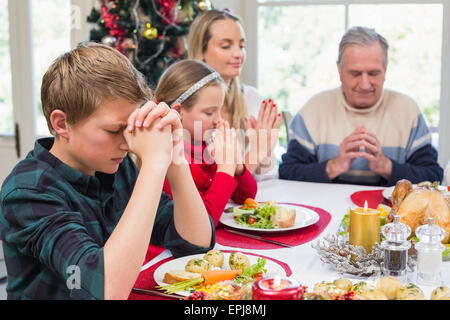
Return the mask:
[[[253, 254], [248, 254], [243, 251], [234, 251], [234, 252], [241, 252], [242, 254], [246, 255], [248, 257], [248, 259], [250, 260], [250, 265], [253, 265], [258, 262], [257, 261], [259, 258], [258, 256], [255, 256]], [[223, 254], [224, 254], [224, 263], [223, 263], [222, 269], [230, 269], [230, 267], [228, 265], [228, 259], [230, 258], [231, 252], [223, 252]], [[155, 270], [155, 273], [153, 274], [153, 278], [155, 279], [155, 282], [159, 286], [165, 286], [165, 285], [167, 285], [167, 283], [163, 282], [163, 279], [164, 279], [164, 275], [166, 274], [166, 272], [173, 271], [173, 270], [184, 270], [184, 268], [186, 267], [186, 264], [189, 260], [191, 260], [193, 258], [203, 258], [204, 255], [205, 255], [204, 253], [203, 254], [195, 254], [192, 256], [186, 256], [186, 257], [181, 257], [181, 258], [167, 261], [166, 263], [160, 265]], [[283, 267], [270, 259], [266, 259], [266, 265], [264, 266], [264, 269], [267, 270], [267, 273], [264, 274], [264, 277], [277, 276], [277, 275], [281, 276], [281, 277], [286, 276], [286, 271], [283, 269]], [[191, 294], [189, 291], [185, 291], [185, 290], [178, 291], [176, 293], [179, 295], [183, 295], [183, 296], [189, 296]]]

